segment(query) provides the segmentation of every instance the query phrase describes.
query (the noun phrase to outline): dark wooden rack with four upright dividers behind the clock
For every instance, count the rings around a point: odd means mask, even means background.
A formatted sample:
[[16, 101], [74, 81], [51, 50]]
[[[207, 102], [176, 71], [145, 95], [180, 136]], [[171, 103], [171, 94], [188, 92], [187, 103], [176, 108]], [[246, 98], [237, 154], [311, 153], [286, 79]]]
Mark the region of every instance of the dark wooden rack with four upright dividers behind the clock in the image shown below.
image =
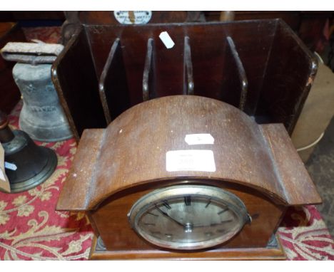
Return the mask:
[[[161, 31], [168, 31], [175, 43], [173, 48], [167, 49], [160, 41]], [[85, 25], [79, 36], [72, 38], [75, 42], [68, 43], [55, 65], [55, 69], [66, 71], [66, 77], [63, 74], [58, 80], [58, 89], [64, 101], [69, 100], [67, 112], [76, 115], [71, 125], [78, 139], [84, 128], [104, 127], [105, 118], [109, 122], [143, 102], [145, 88], [151, 89], [151, 98], [184, 94], [188, 76], [192, 77], [190, 94], [242, 106], [258, 122], [283, 122], [290, 133], [317, 68], [315, 58], [280, 20]], [[85, 53], [78, 53], [83, 48]], [[148, 56], [150, 66], [146, 65]], [[85, 69], [74, 68], [73, 63], [81, 63]], [[95, 77], [100, 78], [102, 102], [96, 100]], [[75, 90], [81, 83], [77, 81], [82, 83], [81, 96], [92, 97], [88, 108], [98, 114], [92, 115], [78, 99]], [[69, 88], [72, 85], [76, 87]], [[106, 117], [100, 120], [103, 107]]]

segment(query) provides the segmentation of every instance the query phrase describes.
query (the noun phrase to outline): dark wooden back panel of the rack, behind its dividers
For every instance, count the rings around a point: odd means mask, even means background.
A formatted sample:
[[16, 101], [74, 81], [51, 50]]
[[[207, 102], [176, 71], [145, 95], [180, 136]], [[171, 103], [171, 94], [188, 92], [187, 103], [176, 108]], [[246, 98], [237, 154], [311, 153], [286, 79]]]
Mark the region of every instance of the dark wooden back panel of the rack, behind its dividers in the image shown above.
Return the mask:
[[[231, 36], [243, 62], [249, 82], [246, 112], [255, 113], [265, 75], [270, 46], [278, 21], [248, 21], [238, 23], [168, 23], [145, 26], [86, 25], [91, 52], [100, 75], [113, 41], [121, 38], [131, 105], [142, 99], [142, 76], [148, 38], [153, 38], [156, 53], [156, 95], [183, 94], [184, 37], [189, 37], [193, 63], [194, 94], [221, 99], [228, 90], [223, 86], [229, 67], [225, 65], [226, 36]], [[158, 38], [168, 31], [175, 46], [167, 49]], [[283, 37], [282, 37], [283, 38]], [[231, 79], [234, 80], [234, 79]], [[238, 106], [238, 104], [236, 105]]]

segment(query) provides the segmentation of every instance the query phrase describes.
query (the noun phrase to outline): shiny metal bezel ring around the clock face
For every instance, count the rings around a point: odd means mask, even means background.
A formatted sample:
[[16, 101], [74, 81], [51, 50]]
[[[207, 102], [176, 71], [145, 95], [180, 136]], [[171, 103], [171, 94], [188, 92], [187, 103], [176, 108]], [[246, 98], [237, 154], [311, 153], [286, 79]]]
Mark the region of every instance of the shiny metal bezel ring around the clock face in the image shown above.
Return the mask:
[[[233, 212], [233, 216], [236, 216], [238, 224], [231, 229], [227, 234], [222, 234], [215, 239], [207, 241], [196, 241], [196, 242], [178, 242], [178, 241], [164, 241], [158, 239], [146, 231], [143, 231], [140, 226], [138, 226], [138, 221], [141, 216], [145, 214], [149, 209], [163, 201], [170, 201], [171, 199], [176, 199], [185, 196], [196, 196], [197, 198], [212, 199], [213, 202], [218, 202], [224, 206], [227, 206]], [[198, 250], [207, 249], [218, 244], [223, 244], [224, 242], [230, 240], [238, 234], [243, 226], [250, 221], [250, 216], [246, 209], [245, 204], [239, 199], [235, 194], [221, 189], [218, 187], [213, 187], [209, 185], [196, 185], [196, 184], [183, 184], [183, 185], [173, 185], [170, 187], [164, 187], [161, 189], [156, 189], [153, 192], [146, 194], [136, 201], [131, 207], [128, 213], [128, 221], [131, 224], [131, 228], [136, 231], [136, 233], [141, 236], [146, 241], [166, 249], [174, 250]]]

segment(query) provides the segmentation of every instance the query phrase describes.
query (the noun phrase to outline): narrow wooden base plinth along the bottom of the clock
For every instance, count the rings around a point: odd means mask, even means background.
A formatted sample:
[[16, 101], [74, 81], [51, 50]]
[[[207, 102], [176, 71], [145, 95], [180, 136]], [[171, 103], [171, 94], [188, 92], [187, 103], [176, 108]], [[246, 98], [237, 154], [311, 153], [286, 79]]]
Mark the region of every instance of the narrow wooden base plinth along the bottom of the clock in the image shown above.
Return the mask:
[[93, 237], [91, 260], [285, 260], [286, 256], [280, 241], [277, 245], [266, 248], [214, 249], [201, 252], [171, 252], [158, 249], [108, 251], [98, 246], [98, 239]]

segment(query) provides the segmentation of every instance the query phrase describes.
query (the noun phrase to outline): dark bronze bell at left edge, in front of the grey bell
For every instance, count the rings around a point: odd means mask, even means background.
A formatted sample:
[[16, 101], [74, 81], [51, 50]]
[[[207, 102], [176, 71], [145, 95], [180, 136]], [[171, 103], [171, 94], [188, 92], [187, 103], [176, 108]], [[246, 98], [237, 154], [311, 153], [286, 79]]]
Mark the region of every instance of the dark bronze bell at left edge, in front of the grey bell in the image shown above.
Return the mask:
[[11, 192], [23, 192], [44, 182], [57, 166], [56, 153], [34, 143], [26, 132], [11, 130], [0, 111], [0, 142]]

